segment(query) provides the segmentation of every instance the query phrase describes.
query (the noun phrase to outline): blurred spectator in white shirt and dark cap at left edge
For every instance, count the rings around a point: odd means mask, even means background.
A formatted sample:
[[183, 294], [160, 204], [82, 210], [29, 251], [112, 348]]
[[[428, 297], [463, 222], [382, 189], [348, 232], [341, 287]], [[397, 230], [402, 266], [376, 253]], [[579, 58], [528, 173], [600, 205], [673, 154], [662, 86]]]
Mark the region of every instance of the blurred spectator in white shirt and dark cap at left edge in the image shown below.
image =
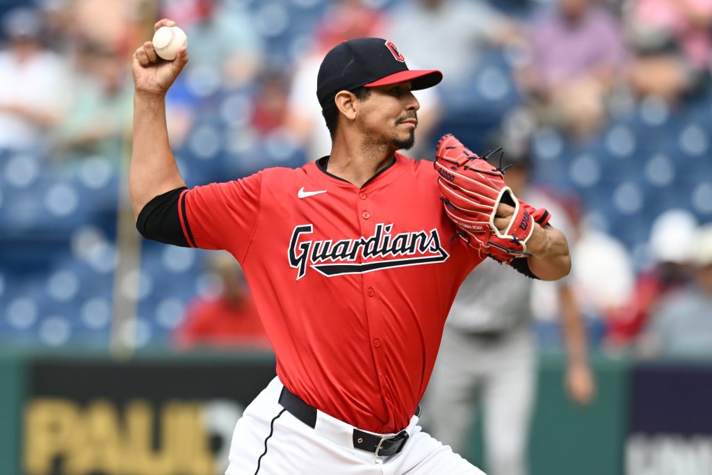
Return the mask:
[[40, 41], [41, 19], [18, 8], [2, 19], [0, 150], [42, 150], [48, 129], [63, 118], [66, 67]]

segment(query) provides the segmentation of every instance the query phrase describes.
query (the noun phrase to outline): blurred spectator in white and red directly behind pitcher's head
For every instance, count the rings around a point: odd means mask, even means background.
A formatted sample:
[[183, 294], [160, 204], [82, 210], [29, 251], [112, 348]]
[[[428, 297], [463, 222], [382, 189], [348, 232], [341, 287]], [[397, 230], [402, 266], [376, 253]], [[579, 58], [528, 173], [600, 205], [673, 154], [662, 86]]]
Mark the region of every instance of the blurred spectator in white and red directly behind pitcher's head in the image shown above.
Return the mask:
[[[329, 154], [331, 137], [326, 128], [318, 101], [314, 100], [317, 75], [324, 55], [341, 41], [362, 37], [383, 36], [384, 13], [367, 6], [364, 0], [338, 0], [328, 9], [315, 28], [314, 46], [295, 65], [288, 104], [288, 130], [293, 139], [306, 152], [308, 160], [316, 160]], [[387, 38], [392, 40], [392, 38]], [[410, 61], [414, 48], [404, 43], [399, 45], [409, 68], [428, 68]], [[437, 64], [437, 63], [434, 63]], [[313, 91], [314, 95], [305, 94]], [[426, 140], [439, 118], [439, 101], [432, 90], [414, 91], [420, 102], [416, 142], [407, 155], [417, 156], [433, 145]]]

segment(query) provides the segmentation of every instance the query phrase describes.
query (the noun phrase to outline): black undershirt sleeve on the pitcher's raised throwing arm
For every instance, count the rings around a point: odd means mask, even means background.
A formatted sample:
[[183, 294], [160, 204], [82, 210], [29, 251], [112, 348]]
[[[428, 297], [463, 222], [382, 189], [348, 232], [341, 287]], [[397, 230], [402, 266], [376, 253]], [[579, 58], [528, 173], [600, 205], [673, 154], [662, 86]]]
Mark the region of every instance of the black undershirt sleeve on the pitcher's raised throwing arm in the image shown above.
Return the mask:
[[178, 201], [186, 187], [172, 189], [148, 202], [136, 220], [141, 236], [174, 246], [191, 247], [180, 224]]

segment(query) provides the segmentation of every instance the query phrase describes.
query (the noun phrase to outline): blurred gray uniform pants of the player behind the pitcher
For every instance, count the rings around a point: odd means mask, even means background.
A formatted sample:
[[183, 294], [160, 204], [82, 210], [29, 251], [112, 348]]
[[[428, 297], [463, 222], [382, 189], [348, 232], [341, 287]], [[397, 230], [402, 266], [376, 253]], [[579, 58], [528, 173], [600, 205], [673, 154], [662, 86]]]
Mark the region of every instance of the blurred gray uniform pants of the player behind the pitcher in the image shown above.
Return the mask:
[[424, 425], [467, 457], [481, 401], [487, 474], [525, 475], [536, 372], [537, 352], [528, 328], [490, 340], [446, 325], [424, 400]]

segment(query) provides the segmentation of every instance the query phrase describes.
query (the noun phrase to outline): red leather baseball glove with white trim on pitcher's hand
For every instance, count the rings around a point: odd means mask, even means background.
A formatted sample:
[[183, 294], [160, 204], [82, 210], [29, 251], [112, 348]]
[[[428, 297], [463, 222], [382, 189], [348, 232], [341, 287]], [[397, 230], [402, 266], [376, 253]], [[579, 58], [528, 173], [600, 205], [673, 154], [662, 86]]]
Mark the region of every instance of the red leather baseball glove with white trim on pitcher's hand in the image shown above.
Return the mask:
[[[548, 223], [550, 214], [517, 199], [504, 182], [501, 164], [493, 167], [488, 159], [500, 149], [480, 158], [453, 135], [444, 135], [437, 145], [434, 167], [446, 214], [457, 226], [458, 235], [480, 255], [486, 254], [502, 263], [516, 257], [530, 256], [527, 241], [534, 231], [534, 221]], [[504, 231], [494, 225], [500, 203], [514, 207], [514, 214]]]

